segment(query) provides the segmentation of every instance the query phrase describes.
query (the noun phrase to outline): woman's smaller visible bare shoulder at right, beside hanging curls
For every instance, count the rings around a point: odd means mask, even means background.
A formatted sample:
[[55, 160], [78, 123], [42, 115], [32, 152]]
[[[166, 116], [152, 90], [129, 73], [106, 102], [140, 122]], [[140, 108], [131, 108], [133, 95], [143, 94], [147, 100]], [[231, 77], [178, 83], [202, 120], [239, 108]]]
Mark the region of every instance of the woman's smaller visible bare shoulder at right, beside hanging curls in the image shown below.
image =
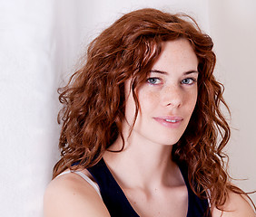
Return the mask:
[[238, 193], [229, 193], [229, 198], [223, 206], [224, 212], [212, 209], [212, 217], [256, 217], [249, 199]]

